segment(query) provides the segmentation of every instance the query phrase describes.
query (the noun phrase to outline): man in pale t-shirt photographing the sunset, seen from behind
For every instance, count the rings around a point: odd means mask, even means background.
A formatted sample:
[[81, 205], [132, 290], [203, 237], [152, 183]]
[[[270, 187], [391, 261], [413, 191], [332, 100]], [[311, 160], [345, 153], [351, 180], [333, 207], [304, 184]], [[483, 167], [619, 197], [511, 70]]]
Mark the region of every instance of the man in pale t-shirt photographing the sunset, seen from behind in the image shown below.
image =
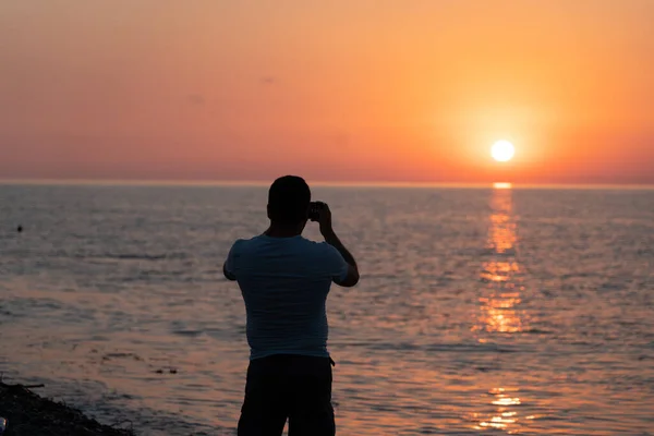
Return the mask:
[[[325, 242], [302, 237], [307, 220]], [[331, 282], [359, 282], [356, 262], [331, 227], [325, 203], [311, 203], [299, 177], [277, 179], [268, 192], [270, 227], [238, 240], [223, 265], [241, 288], [247, 314], [250, 366], [239, 436], [334, 436], [331, 365], [325, 302]]]

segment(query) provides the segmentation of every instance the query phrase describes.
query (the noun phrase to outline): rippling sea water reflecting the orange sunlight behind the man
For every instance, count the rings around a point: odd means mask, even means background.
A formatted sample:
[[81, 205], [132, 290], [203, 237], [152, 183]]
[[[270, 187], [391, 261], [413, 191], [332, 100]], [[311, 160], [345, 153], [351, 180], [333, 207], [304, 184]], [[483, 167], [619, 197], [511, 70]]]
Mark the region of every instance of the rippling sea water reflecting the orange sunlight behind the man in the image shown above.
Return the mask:
[[[362, 271], [328, 299], [339, 435], [654, 435], [654, 191], [314, 194]], [[4, 379], [142, 435], [234, 435], [245, 317], [221, 265], [265, 202], [0, 185]]]

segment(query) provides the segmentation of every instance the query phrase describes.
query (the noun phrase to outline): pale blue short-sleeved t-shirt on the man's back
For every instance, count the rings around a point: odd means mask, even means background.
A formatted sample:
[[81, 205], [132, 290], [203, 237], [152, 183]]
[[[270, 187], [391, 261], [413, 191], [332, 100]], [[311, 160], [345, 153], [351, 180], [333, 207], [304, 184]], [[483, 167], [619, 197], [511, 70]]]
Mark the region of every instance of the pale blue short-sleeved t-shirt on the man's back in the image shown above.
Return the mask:
[[328, 358], [325, 302], [331, 281], [344, 279], [348, 267], [334, 246], [301, 235], [237, 241], [227, 268], [243, 293], [251, 360]]

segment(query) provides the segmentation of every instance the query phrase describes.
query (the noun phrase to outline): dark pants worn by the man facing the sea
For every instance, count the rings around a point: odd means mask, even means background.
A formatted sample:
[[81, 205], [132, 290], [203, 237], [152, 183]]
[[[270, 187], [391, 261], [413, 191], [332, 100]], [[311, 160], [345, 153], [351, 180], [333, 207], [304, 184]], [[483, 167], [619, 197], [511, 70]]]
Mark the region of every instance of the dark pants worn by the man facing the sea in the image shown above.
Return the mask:
[[272, 355], [247, 367], [239, 436], [334, 436], [331, 359]]

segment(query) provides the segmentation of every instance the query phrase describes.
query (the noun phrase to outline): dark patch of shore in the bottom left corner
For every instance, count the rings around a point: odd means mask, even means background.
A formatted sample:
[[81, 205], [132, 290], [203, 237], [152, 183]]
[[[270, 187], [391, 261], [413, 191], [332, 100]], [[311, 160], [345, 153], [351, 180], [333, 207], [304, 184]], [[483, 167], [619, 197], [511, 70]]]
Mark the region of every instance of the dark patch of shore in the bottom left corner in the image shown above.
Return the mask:
[[0, 382], [0, 416], [8, 424], [2, 436], [134, 436], [132, 431], [102, 425], [29, 388]]

